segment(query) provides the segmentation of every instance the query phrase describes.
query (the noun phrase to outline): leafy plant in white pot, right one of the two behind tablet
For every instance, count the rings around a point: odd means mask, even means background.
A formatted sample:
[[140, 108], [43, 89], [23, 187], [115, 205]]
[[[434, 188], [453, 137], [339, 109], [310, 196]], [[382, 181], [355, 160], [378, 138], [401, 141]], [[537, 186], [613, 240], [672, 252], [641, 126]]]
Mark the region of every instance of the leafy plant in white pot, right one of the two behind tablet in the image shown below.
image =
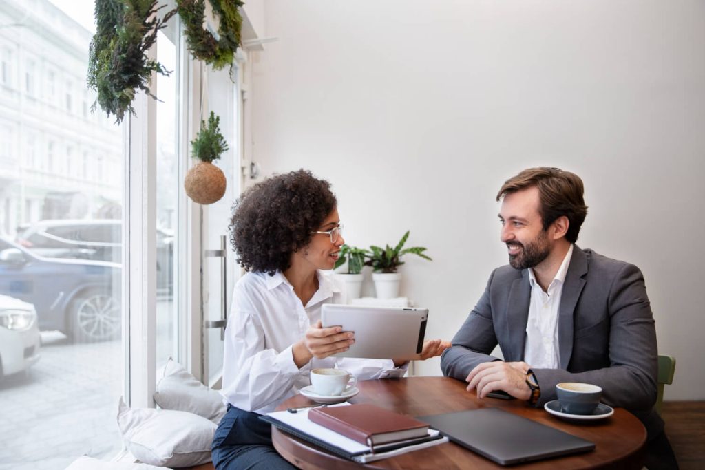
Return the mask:
[[369, 255], [365, 265], [372, 266], [374, 271], [372, 280], [374, 280], [374, 289], [378, 299], [393, 299], [399, 296], [401, 276], [397, 273], [397, 269], [404, 264], [404, 261], [401, 261], [402, 256], [405, 254], [416, 254], [423, 259], [431, 261], [431, 258], [424, 254], [426, 251], [424, 247], [404, 248], [409, 232], [410, 230], [406, 231], [396, 247], [390, 247], [389, 245], [386, 245], [384, 249], [374, 245], [369, 247], [372, 250], [372, 254]]

